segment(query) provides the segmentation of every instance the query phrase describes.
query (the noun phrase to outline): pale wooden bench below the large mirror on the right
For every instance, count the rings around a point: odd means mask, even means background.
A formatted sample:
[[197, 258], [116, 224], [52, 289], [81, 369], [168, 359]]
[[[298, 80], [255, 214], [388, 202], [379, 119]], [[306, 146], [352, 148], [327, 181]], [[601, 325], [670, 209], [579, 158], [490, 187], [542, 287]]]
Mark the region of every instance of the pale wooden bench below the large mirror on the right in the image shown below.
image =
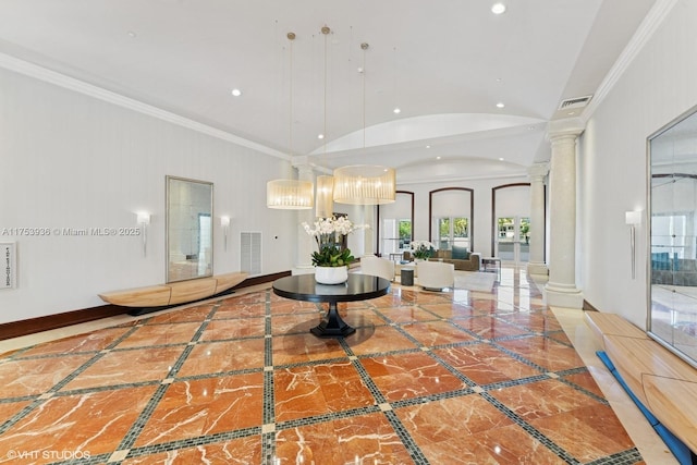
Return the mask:
[[586, 311], [634, 395], [693, 452], [697, 451], [697, 369], [614, 314]]

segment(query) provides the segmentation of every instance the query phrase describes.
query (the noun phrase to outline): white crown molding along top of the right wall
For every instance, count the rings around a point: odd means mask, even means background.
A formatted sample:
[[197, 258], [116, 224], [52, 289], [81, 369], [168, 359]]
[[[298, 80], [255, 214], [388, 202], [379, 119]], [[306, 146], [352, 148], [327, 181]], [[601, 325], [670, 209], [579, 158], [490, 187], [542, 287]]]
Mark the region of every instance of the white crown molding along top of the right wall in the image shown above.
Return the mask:
[[612, 88], [617, 84], [620, 77], [624, 74], [624, 72], [629, 68], [632, 62], [636, 59], [637, 54], [644, 49], [646, 42], [653, 36], [658, 27], [663, 23], [665, 16], [671, 12], [673, 7], [677, 3], [678, 0], [657, 0], [651, 10], [649, 10], [648, 14], [639, 25], [639, 27], [632, 36], [632, 39], [627, 44], [627, 46], [622, 50], [617, 61], [614, 62], [610, 72], [606, 75], [604, 79], [598, 86], [598, 89], [594, 94], [592, 99], [586, 107], [585, 111], [580, 114], [580, 118], [584, 119], [584, 122], [588, 122], [590, 117], [598, 109], [598, 106], [604, 100], [604, 98], [610, 94]]

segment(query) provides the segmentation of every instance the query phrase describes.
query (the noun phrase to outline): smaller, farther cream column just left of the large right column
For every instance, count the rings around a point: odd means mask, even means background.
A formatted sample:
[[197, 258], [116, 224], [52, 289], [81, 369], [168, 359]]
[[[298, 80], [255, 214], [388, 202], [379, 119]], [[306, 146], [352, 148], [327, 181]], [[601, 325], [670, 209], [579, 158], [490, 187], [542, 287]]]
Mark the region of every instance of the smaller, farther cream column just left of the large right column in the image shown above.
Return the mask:
[[548, 163], [537, 163], [528, 170], [530, 178], [530, 259], [528, 274], [549, 273], [545, 264], [545, 178], [549, 173]]

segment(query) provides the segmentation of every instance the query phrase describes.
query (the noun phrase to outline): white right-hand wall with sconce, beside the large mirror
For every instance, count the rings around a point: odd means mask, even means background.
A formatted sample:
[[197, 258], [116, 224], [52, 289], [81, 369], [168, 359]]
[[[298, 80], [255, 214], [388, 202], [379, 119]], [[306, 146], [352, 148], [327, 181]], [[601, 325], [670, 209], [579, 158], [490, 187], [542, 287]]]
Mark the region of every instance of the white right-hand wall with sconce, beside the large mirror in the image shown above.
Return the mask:
[[697, 105], [697, 2], [680, 0], [589, 120], [579, 144], [580, 269], [596, 308], [646, 327], [647, 224], [632, 279], [627, 210], [647, 211], [647, 137]]

